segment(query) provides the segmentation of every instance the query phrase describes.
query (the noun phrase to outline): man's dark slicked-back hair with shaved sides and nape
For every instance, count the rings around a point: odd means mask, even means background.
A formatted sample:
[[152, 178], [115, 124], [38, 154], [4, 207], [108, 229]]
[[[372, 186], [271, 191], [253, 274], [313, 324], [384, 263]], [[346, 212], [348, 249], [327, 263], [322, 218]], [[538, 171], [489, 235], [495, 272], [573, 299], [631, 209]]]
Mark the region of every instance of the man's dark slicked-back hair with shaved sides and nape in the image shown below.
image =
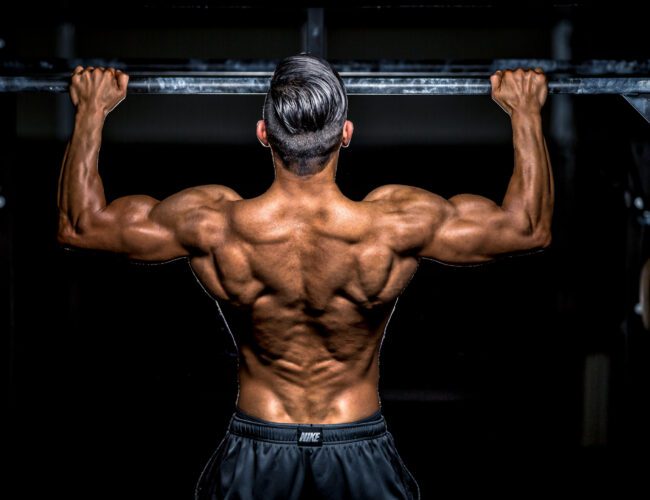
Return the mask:
[[264, 101], [269, 143], [298, 175], [320, 172], [341, 144], [348, 97], [341, 77], [320, 57], [287, 57], [275, 68]]

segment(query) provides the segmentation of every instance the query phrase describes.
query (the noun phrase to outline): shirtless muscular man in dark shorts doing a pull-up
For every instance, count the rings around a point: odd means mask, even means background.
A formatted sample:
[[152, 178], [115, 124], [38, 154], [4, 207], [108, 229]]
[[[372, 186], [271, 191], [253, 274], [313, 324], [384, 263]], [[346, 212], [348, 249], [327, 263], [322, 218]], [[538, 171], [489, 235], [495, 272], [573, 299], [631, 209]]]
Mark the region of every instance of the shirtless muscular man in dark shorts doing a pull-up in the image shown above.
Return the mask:
[[242, 199], [209, 185], [162, 201], [107, 203], [102, 127], [128, 79], [111, 68], [73, 73], [58, 239], [139, 261], [186, 257], [205, 289], [244, 318], [235, 329], [236, 410], [196, 498], [418, 498], [381, 413], [384, 331], [421, 258], [480, 263], [550, 244], [544, 74], [490, 78], [513, 131], [514, 171], [501, 204], [399, 185], [346, 198], [335, 174], [353, 133], [347, 96], [332, 67], [308, 55], [278, 65], [257, 123], [275, 169], [264, 194]]

